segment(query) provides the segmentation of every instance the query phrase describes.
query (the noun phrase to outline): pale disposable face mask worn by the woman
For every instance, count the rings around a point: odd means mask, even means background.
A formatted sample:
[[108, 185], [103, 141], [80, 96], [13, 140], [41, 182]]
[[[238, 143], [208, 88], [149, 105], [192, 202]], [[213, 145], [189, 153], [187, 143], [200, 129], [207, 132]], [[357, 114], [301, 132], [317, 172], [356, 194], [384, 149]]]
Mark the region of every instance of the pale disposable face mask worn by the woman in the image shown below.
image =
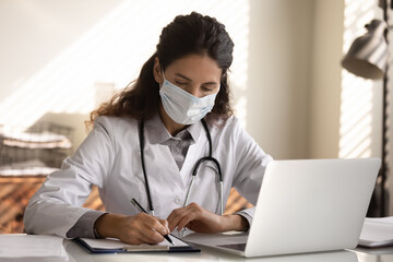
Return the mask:
[[164, 83], [159, 90], [159, 96], [166, 114], [175, 122], [181, 124], [195, 123], [213, 109], [217, 94], [199, 98], [167, 81], [164, 72], [163, 78]]

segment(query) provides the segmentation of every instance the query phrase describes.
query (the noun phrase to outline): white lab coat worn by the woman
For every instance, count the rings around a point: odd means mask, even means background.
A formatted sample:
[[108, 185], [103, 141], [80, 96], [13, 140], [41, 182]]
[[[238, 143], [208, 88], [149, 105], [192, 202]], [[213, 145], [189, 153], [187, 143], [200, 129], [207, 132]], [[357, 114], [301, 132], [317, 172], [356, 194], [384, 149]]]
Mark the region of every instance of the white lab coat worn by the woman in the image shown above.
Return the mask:
[[[157, 117], [157, 116], [156, 116]], [[175, 209], [183, 206], [191, 172], [198, 159], [209, 154], [206, 133], [201, 132], [190, 145], [183, 166], [178, 166], [168, 146], [152, 143], [145, 122], [145, 168], [148, 176], [155, 215], [167, 218]], [[231, 187], [255, 204], [262, 177], [272, 159], [239, 126], [235, 117], [224, 126], [210, 126], [213, 156], [219, 162], [224, 179], [224, 203]], [[199, 169], [189, 203], [219, 214], [218, 175], [216, 167], [205, 162]], [[95, 128], [61, 170], [49, 175], [33, 195], [25, 211], [25, 228], [35, 234], [67, 231], [88, 210], [82, 207], [92, 184], [99, 189], [105, 209], [110, 213], [135, 215], [139, 211], [130, 200], [136, 199], [148, 210], [145, 181], [141, 168], [138, 122], [130, 118], [98, 117]], [[253, 210], [245, 211], [249, 218]]]

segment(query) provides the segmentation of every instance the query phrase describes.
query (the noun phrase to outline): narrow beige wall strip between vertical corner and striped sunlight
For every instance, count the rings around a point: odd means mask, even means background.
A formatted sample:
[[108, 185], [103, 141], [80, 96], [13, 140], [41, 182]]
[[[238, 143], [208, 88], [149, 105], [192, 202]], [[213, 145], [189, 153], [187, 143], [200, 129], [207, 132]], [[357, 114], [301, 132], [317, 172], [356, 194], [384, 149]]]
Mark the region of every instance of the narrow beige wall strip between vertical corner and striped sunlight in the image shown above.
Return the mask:
[[338, 157], [344, 1], [314, 2], [308, 100], [308, 155]]

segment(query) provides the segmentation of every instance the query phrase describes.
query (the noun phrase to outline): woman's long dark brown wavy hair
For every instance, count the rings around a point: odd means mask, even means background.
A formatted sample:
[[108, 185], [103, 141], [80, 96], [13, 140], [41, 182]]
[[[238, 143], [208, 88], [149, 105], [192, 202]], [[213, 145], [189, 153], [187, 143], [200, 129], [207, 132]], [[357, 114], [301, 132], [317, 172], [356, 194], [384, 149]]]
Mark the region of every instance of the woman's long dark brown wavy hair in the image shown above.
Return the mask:
[[228, 118], [233, 115], [227, 71], [233, 62], [234, 43], [222, 23], [196, 12], [178, 15], [164, 27], [156, 48], [134, 82], [91, 112], [90, 121], [85, 122], [87, 129], [98, 116], [127, 116], [136, 120], [147, 120], [157, 112], [160, 102], [159, 84], [153, 75], [156, 57], [163, 70], [175, 60], [190, 53], [207, 55], [215, 60], [222, 69], [221, 87], [212, 112], [207, 116]]

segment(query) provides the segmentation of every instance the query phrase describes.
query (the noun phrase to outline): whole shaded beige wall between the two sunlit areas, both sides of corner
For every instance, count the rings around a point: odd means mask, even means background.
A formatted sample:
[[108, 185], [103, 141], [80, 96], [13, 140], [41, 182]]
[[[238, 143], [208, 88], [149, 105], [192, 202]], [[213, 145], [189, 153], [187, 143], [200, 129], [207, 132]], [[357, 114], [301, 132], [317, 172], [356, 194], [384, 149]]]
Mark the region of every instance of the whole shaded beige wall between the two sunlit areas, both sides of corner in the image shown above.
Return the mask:
[[344, 0], [251, 1], [247, 129], [275, 158], [338, 157], [343, 23]]

